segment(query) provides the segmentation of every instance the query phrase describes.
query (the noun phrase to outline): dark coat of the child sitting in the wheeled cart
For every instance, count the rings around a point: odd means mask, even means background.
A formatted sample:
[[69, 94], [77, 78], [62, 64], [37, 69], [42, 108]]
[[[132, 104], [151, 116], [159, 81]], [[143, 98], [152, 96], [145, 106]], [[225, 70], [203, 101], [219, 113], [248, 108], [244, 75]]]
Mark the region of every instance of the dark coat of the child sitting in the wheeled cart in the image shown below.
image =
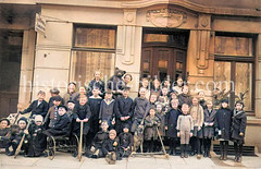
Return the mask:
[[67, 114], [65, 113], [60, 117], [60, 119], [53, 123], [52, 128], [46, 130], [44, 133], [50, 136], [69, 136], [71, 133], [71, 121]]

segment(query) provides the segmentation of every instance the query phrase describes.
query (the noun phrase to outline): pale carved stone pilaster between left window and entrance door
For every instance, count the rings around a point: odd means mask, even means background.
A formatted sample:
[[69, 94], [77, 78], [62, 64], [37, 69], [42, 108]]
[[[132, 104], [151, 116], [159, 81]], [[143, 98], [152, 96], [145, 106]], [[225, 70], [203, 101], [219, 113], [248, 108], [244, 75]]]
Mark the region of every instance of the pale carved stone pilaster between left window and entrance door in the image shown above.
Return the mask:
[[115, 67], [132, 74], [130, 97], [137, 97], [140, 73], [142, 28], [136, 26], [136, 10], [124, 10], [124, 24], [117, 26]]

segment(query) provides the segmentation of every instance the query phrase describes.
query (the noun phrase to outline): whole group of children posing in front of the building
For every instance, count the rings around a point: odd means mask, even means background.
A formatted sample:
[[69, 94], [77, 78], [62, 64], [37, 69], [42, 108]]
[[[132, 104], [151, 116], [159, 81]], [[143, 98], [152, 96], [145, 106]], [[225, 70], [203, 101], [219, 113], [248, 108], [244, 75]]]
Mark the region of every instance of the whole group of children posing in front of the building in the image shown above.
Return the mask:
[[[99, 75], [98, 75], [99, 76]], [[130, 75], [128, 75], [132, 79]], [[174, 87], [165, 81], [160, 85], [154, 80], [142, 79], [139, 96], [134, 100], [128, 96], [129, 87], [104, 89], [100, 79], [91, 81], [91, 93], [84, 87], [76, 93], [76, 84], [69, 84], [69, 92], [62, 98], [57, 88], [51, 89], [52, 97], [45, 101], [45, 92], [38, 93], [22, 114], [30, 112], [30, 119], [21, 118], [17, 125], [9, 129], [8, 119], [1, 120], [1, 146], [9, 156], [14, 155], [22, 135], [26, 135], [23, 147], [25, 156], [46, 155], [46, 137], [80, 135], [80, 122], [84, 122], [83, 138], [86, 156], [107, 157], [108, 162], [128, 157], [134, 146], [134, 134], [144, 129], [146, 152], [161, 150], [160, 137], [169, 145], [169, 154], [176, 155], [181, 143], [181, 157], [200, 154], [211, 157], [211, 141], [216, 136], [221, 145], [221, 158], [227, 158], [228, 141], [235, 145], [235, 161], [241, 161], [246, 130], [244, 104], [237, 101], [235, 109], [228, 108], [223, 99], [219, 110], [213, 109], [211, 100], [191, 97], [189, 87], [179, 77]], [[200, 94], [201, 95], [201, 94]], [[64, 102], [64, 105], [63, 105]], [[26, 128], [29, 125], [29, 128]], [[28, 130], [27, 130], [28, 129]], [[76, 156], [77, 153], [74, 154]]]

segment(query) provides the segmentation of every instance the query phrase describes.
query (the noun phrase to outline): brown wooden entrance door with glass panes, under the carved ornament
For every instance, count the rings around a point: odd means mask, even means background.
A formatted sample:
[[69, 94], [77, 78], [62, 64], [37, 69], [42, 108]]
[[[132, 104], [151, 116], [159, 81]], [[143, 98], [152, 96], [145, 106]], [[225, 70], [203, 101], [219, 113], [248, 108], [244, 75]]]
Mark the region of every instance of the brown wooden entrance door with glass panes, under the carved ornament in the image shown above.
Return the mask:
[[186, 79], [188, 32], [144, 29], [141, 77]]

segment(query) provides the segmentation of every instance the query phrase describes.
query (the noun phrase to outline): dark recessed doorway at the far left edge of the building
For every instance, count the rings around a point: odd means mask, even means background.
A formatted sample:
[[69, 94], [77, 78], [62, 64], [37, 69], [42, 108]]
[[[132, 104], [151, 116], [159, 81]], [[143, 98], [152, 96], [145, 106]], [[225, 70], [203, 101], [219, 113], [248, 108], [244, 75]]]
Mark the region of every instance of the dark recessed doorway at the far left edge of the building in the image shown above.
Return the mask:
[[23, 32], [0, 29], [0, 112], [17, 112]]

